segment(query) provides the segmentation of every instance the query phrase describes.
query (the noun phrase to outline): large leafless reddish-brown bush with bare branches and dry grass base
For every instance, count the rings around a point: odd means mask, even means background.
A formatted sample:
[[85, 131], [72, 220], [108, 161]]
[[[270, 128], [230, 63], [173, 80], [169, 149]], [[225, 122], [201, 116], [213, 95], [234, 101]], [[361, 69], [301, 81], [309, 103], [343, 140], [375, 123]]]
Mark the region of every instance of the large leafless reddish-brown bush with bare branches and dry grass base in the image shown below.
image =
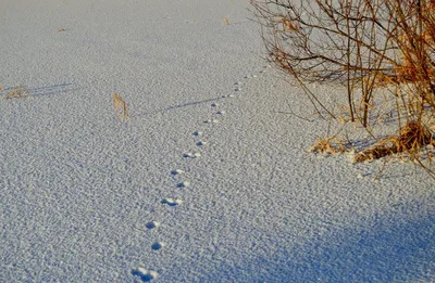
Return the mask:
[[309, 82], [345, 86], [349, 120], [361, 123], [369, 132], [377, 121], [374, 114], [382, 111], [374, 104], [377, 90], [387, 90], [386, 101], [398, 113], [398, 133], [378, 141], [377, 150], [363, 151], [357, 162], [418, 152], [430, 143], [433, 132], [425, 125], [434, 120], [435, 108], [435, 1], [251, 0], [251, 4], [269, 60], [302, 86], [320, 115], [344, 121]]

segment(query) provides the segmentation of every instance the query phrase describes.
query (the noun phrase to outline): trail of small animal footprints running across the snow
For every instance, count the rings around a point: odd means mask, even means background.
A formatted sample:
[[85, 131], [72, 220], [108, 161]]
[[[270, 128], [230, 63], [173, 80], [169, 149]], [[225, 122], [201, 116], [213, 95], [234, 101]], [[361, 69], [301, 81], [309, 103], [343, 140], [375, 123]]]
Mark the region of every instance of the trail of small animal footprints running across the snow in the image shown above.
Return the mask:
[[[258, 74], [263, 74], [264, 72], [266, 72], [268, 67], [270, 67], [270, 65], [268, 66], [263, 66], [262, 69], [260, 69], [259, 72], [257, 72]], [[258, 77], [257, 74], [252, 74], [252, 75], [246, 75], [244, 76], [244, 79], [250, 79], [250, 78], [256, 78]], [[237, 94], [240, 94], [243, 88], [241, 86], [244, 85], [243, 81], [236, 81], [234, 83], [234, 92], [228, 94], [228, 95], [223, 95], [222, 98], [235, 98]], [[225, 116], [225, 111], [220, 110], [220, 105], [217, 103], [212, 103], [211, 105], [211, 111], [213, 114], [213, 118], [211, 119], [207, 119], [203, 123], [204, 124], [219, 124], [221, 123], [221, 119], [223, 116]], [[195, 138], [195, 144], [198, 147], [202, 147], [204, 145], [207, 145], [207, 142], [202, 140], [203, 138], [203, 132], [202, 131], [196, 131], [192, 133], [192, 137]], [[183, 153], [183, 158], [185, 159], [196, 159], [201, 157], [201, 153], [198, 151], [190, 151], [190, 152], [185, 152]], [[184, 170], [182, 169], [174, 169], [171, 171], [172, 176], [184, 176]], [[183, 182], [178, 182], [176, 183], [176, 188], [179, 189], [188, 189], [190, 186], [190, 182], [189, 181], [183, 181]], [[174, 206], [178, 206], [183, 204], [182, 200], [178, 198], [163, 198], [161, 202], [161, 205], [166, 205], [170, 207], [174, 207]], [[160, 222], [158, 221], [150, 221], [148, 223], [146, 223], [146, 228], [148, 230], [152, 230], [152, 229], [157, 229], [160, 227]], [[156, 242], [153, 244], [151, 244], [151, 249], [152, 250], [160, 250], [164, 248], [164, 243], [162, 242]], [[157, 271], [152, 271], [152, 270], [147, 270], [142, 267], [139, 267], [135, 270], [132, 271], [133, 275], [138, 276], [142, 282], [150, 282], [154, 279], [157, 279], [159, 276], [159, 273]]]

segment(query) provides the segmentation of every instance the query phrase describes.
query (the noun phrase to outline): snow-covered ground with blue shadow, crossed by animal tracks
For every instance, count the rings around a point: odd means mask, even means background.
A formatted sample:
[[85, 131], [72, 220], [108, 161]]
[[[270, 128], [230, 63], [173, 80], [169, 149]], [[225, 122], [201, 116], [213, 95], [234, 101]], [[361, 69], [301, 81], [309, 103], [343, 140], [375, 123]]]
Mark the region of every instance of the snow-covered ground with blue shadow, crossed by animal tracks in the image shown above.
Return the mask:
[[0, 1], [0, 282], [435, 281], [434, 181], [308, 153], [247, 9]]

